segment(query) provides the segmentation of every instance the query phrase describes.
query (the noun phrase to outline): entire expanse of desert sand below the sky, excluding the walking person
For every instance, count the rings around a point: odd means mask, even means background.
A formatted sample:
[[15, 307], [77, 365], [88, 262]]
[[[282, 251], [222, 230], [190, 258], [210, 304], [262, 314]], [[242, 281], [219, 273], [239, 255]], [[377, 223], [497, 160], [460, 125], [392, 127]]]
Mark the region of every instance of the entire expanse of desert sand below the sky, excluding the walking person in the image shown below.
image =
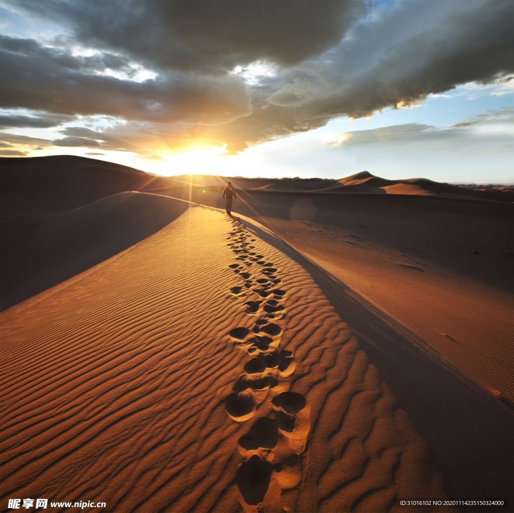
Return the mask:
[[511, 188], [0, 164], [0, 500], [513, 504]]

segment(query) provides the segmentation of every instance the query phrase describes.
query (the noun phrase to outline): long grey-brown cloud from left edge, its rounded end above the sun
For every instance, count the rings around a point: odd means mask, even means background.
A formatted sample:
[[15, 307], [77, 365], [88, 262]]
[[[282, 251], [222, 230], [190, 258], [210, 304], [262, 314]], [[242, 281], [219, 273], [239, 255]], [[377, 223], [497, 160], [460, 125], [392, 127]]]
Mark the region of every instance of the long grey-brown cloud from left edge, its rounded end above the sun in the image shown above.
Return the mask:
[[[161, 75], [142, 83], [87, 72], [82, 58], [32, 40], [2, 37], [4, 108], [64, 115], [105, 114], [140, 121], [224, 123], [251, 111], [241, 80]], [[101, 70], [99, 70], [101, 71]]]

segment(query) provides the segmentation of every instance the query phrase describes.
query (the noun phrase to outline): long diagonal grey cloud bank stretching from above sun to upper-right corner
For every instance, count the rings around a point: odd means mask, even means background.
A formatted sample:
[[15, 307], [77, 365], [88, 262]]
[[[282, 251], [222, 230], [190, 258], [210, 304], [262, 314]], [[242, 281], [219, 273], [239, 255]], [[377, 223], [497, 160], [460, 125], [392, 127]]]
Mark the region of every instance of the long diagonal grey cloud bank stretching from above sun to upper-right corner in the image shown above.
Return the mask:
[[[307, 62], [268, 79], [269, 96], [260, 102], [254, 93], [252, 114], [219, 127], [218, 137], [241, 150], [324, 126], [339, 116], [358, 118], [391, 106], [415, 105], [430, 93], [460, 84], [509, 80], [507, 74], [514, 72], [514, 3], [472, 6], [454, 10], [437, 26], [395, 43], [362, 73]], [[200, 134], [215, 135], [210, 127]]]

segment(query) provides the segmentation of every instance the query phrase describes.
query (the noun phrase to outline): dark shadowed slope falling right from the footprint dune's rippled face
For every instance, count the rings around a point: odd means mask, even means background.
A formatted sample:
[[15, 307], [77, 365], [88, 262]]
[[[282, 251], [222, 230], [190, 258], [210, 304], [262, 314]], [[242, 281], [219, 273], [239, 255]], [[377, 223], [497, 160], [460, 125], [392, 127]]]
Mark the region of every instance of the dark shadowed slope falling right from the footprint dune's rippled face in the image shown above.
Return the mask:
[[[257, 233], [266, 238], [259, 229]], [[514, 423], [509, 408], [316, 262], [297, 252], [292, 257], [357, 334], [361, 347], [409, 412], [443, 471], [450, 496], [508, 497], [512, 503]]]

